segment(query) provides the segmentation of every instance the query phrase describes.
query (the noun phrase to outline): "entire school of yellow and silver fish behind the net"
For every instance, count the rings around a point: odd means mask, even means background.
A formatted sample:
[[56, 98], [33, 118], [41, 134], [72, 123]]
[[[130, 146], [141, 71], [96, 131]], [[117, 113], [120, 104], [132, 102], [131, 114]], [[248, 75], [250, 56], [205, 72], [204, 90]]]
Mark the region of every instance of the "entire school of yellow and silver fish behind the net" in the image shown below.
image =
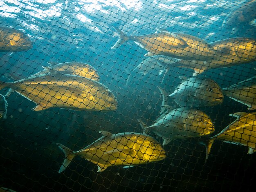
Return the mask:
[[[255, 0], [247, 5], [247, 11], [241, 8], [238, 13], [227, 18], [224, 24], [228, 25], [236, 18], [245, 22], [251, 20], [252, 17], [247, 14], [255, 16], [251, 10]], [[152, 125], [146, 125], [138, 119], [143, 133], [112, 134], [100, 131], [102, 136], [99, 139], [78, 151], [57, 143], [65, 155], [59, 173], [70, 165], [75, 156], [97, 165], [98, 172], [113, 165], [127, 168], [162, 161], [166, 158], [162, 145], [188, 138], [209, 137], [206, 159], [209, 159], [216, 139], [247, 146], [248, 154], [256, 152], [256, 112], [230, 114], [236, 120], [216, 134], [213, 121], [203, 111], [204, 107], [221, 105], [224, 96], [247, 105], [249, 110], [255, 110], [256, 78], [221, 88], [215, 80], [198, 76], [209, 69], [254, 62], [256, 39], [237, 37], [208, 43], [190, 34], [164, 29], [143, 36], [127, 36], [118, 28], [115, 31], [119, 39], [111, 49], [117, 49], [131, 40], [147, 51], [146, 58], [133, 70], [142, 76], [154, 73], [156, 76], [165, 76], [173, 67], [190, 68], [194, 72], [190, 78], [181, 76], [180, 85], [171, 93], [159, 89], [163, 96], [162, 109]], [[0, 52], [28, 51], [32, 48], [29, 36], [22, 31], [0, 27]], [[115, 111], [119, 102], [100, 80], [97, 70], [91, 65], [66, 62], [50, 63], [42, 71], [13, 82], [0, 82], [0, 91], [7, 90], [5, 95], [0, 94], [0, 120], [8, 118], [7, 99], [13, 92], [36, 104], [34, 111], [53, 107], [75, 111]], [[171, 105], [168, 105], [168, 100], [172, 101]], [[150, 133], [159, 136], [162, 145]]]

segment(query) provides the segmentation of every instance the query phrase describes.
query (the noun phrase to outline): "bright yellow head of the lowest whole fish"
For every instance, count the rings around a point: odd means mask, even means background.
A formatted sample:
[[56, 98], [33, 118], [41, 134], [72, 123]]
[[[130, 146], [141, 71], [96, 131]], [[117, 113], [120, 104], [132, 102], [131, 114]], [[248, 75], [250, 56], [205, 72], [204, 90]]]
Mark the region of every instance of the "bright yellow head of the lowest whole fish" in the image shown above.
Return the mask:
[[161, 161], [166, 158], [162, 145], [146, 134], [139, 134], [132, 148], [137, 151], [135, 158], [142, 162]]

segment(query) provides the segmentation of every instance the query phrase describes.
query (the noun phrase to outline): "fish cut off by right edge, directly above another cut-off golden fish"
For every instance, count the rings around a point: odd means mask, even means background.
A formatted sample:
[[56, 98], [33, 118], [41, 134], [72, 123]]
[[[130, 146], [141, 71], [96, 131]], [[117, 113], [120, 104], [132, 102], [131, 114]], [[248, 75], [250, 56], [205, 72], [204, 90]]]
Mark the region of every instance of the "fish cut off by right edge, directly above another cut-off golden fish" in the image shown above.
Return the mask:
[[256, 109], [256, 76], [222, 88], [222, 92], [231, 99], [247, 105], [248, 110]]

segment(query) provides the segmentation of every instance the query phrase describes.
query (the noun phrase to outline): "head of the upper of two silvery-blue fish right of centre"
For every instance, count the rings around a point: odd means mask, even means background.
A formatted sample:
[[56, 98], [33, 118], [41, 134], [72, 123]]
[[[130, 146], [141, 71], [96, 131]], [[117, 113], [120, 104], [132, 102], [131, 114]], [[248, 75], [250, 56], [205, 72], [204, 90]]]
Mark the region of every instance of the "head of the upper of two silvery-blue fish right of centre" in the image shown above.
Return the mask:
[[200, 100], [200, 105], [213, 106], [222, 104], [224, 96], [220, 86], [212, 79], [202, 80], [196, 89], [195, 98]]

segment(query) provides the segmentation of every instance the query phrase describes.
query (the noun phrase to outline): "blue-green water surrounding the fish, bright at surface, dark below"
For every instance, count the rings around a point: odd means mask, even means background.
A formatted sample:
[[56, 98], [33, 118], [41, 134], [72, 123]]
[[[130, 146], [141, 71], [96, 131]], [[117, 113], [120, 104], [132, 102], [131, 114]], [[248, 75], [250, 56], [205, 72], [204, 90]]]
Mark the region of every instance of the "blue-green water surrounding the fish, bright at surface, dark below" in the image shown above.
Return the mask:
[[[117, 96], [115, 112], [74, 112], [65, 109], [31, 111], [34, 103], [18, 94], [8, 98], [8, 119], [0, 124], [0, 186], [16, 191], [185, 191], [232, 190], [253, 187], [256, 156], [247, 148], [217, 142], [212, 160], [204, 165], [204, 147], [193, 139], [174, 141], [164, 149], [164, 161], [97, 173], [96, 166], [79, 157], [59, 174], [64, 156], [55, 143], [79, 150], [100, 137], [99, 130], [141, 132], [137, 119], [152, 123], [162, 98], [191, 76], [190, 69], [174, 68], [163, 83], [161, 76], [135, 74], [146, 54], [129, 41], [110, 49], [118, 39], [115, 27], [127, 35], [155, 33], [159, 29], [182, 32], [208, 42], [229, 37], [256, 38], [255, 25], [232, 30], [222, 26], [228, 13], [243, 1], [227, 0], [0, 0], [0, 24], [26, 33], [34, 43], [25, 52], [0, 53], [0, 80], [8, 74], [26, 77], [48, 62], [83, 62], [100, 74], [100, 82]], [[227, 87], [255, 76], [256, 63], [211, 69], [202, 76]], [[132, 78], [129, 78], [131, 77]], [[132, 79], [128, 82], [128, 79]], [[129, 85], [129, 86], [128, 86]], [[228, 114], [247, 111], [229, 98], [205, 111], [220, 131], [231, 121]], [[157, 138], [159, 139], [159, 138]], [[249, 176], [254, 175], [254, 176]]]

